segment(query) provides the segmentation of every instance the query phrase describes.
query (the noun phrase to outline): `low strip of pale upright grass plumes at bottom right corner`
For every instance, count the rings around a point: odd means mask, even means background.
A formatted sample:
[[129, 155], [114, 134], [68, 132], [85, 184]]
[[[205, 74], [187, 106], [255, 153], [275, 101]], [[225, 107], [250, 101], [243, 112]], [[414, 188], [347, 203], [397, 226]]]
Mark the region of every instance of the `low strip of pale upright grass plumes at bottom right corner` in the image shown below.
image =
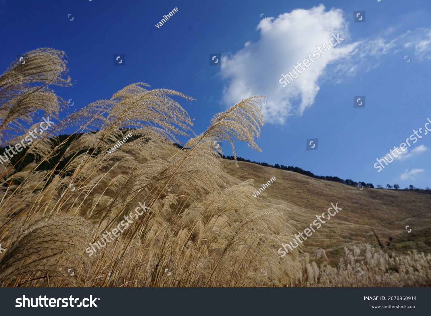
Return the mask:
[[296, 286], [300, 287], [429, 287], [431, 279], [431, 255], [417, 252], [395, 256], [375, 250], [370, 245], [345, 254], [337, 267], [327, 263], [317, 266], [316, 261], [324, 251], [316, 252], [315, 261], [306, 254], [302, 258], [303, 271]]

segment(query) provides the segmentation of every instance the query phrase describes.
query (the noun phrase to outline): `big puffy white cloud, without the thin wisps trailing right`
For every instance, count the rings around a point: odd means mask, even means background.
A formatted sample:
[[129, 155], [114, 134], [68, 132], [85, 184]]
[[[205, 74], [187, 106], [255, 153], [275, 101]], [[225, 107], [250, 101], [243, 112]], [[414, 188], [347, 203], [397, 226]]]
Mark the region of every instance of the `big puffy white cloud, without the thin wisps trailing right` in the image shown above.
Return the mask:
[[221, 74], [229, 80], [222, 101], [231, 106], [249, 96], [268, 95], [263, 112], [270, 122], [283, 123], [295, 112], [301, 115], [314, 102], [319, 78], [328, 75], [326, 66], [349, 56], [358, 45], [340, 40], [331, 50], [327, 50], [328, 46], [322, 48], [325, 54], [298, 79], [282, 88], [278, 82], [281, 73], [291, 71], [293, 65], [312, 54], [317, 45], [328, 45], [331, 33], [341, 31], [339, 37], [343, 39], [349, 36], [343, 11], [325, 12], [323, 5], [309, 10], [295, 9], [278, 18], [267, 17], [259, 22], [257, 30], [260, 31], [258, 42], [247, 42], [241, 50], [222, 57]]

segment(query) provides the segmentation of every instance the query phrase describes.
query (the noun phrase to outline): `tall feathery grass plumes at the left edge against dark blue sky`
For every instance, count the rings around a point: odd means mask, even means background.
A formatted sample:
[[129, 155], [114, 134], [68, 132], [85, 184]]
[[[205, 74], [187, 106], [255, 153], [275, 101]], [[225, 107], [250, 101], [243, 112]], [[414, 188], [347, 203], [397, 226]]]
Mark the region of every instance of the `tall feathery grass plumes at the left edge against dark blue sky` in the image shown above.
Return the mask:
[[60, 105], [66, 102], [48, 85], [72, 85], [70, 77], [65, 77], [68, 68], [64, 52], [39, 48], [23, 56], [25, 64], [17, 60], [0, 76], [0, 143], [22, 133], [23, 123], [39, 121], [34, 117], [37, 110], [48, 116], [58, 115]]

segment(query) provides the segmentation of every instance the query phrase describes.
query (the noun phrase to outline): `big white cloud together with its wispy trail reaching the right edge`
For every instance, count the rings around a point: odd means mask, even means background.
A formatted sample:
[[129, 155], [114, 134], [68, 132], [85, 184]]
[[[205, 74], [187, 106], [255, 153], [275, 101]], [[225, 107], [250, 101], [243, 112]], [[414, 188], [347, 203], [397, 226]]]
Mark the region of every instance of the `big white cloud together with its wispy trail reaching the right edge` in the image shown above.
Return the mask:
[[[256, 43], [248, 41], [236, 53], [222, 56], [221, 75], [228, 80], [222, 103], [231, 106], [250, 96], [267, 95], [262, 111], [266, 121], [283, 124], [287, 117], [302, 115], [314, 103], [320, 82], [333, 79], [340, 83], [342, 74], [353, 76], [357, 71], [377, 67], [378, 62], [369, 66], [370, 56], [399, 53], [398, 47], [403, 46], [415, 47], [417, 56], [431, 56], [430, 29], [408, 31], [392, 40], [373, 37], [353, 42], [349, 41], [351, 22], [350, 19], [347, 22], [345, 15], [341, 9], [325, 12], [321, 4], [261, 20], [256, 28], [260, 32]], [[294, 64], [308, 58], [317, 45], [328, 44], [331, 34], [339, 31], [344, 41], [331, 50], [322, 49], [325, 54], [286, 87], [279, 84], [281, 73], [292, 71]], [[387, 28], [385, 37], [393, 31]]]

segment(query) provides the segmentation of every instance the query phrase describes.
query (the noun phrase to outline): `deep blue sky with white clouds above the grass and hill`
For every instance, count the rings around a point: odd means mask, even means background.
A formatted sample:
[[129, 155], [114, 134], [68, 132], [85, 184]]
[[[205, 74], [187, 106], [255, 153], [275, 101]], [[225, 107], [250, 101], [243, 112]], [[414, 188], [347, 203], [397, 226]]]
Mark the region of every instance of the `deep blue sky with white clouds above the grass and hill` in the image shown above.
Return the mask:
[[[365, 22], [354, 23], [361, 10]], [[75, 108], [145, 82], [194, 97], [178, 101], [196, 118], [196, 133], [242, 98], [267, 95], [262, 152], [237, 142], [238, 156], [375, 186], [425, 188], [431, 133], [381, 172], [373, 165], [431, 119], [430, 11], [426, 0], [0, 0], [0, 67], [36, 48], [63, 50], [75, 83], [54, 90]], [[282, 87], [281, 74], [332, 33], [344, 40]], [[212, 53], [222, 54], [221, 65], [209, 65]], [[114, 54], [125, 54], [124, 66], [113, 66]], [[365, 108], [353, 108], [355, 96], [366, 96]], [[311, 138], [318, 150], [306, 151]]]

